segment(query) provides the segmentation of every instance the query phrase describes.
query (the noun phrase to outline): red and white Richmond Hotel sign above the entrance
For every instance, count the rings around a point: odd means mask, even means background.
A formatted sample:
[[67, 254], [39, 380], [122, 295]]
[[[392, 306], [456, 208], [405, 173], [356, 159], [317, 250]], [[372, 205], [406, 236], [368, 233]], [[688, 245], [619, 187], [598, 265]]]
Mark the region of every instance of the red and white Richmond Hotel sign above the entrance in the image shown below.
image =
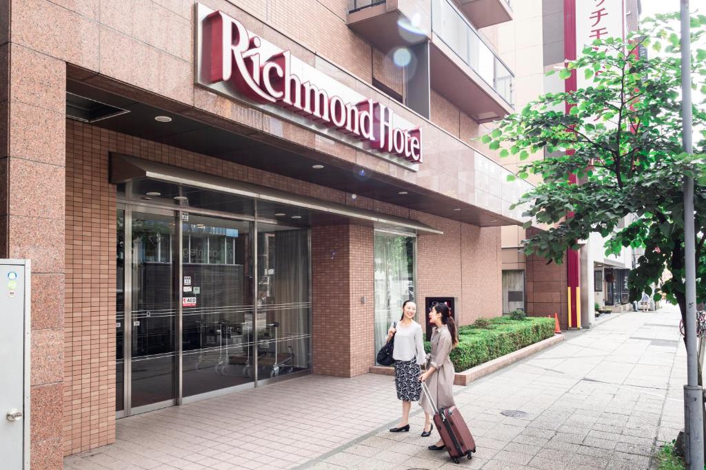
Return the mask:
[[265, 108], [276, 106], [285, 117], [303, 116], [395, 159], [421, 163], [421, 129], [388, 106], [278, 49], [222, 11], [197, 4], [196, 20], [199, 84]]

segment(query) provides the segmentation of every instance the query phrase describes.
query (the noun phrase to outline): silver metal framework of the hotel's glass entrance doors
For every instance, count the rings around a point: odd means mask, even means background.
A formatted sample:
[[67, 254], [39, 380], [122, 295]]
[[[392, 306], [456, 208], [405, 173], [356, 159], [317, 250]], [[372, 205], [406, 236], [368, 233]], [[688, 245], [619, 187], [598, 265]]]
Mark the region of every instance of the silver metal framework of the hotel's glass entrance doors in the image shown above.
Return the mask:
[[[124, 418], [126, 416], [133, 416], [135, 414], [140, 414], [144, 412], [150, 412], [155, 409], [160, 409], [164, 407], [169, 407], [173, 405], [181, 405], [181, 404], [186, 404], [190, 402], [196, 402], [198, 400], [203, 400], [205, 398], [210, 398], [210, 397], [217, 397], [221, 395], [226, 395], [228, 393], [232, 392], [237, 392], [240, 390], [248, 390], [251, 388], [257, 388], [258, 386], [261, 385], [268, 385], [270, 383], [276, 383], [280, 382], [283, 380], [288, 380], [289, 378], [296, 378], [296, 377], [301, 377], [301, 376], [306, 376], [310, 375], [312, 368], [313, 368], [313, 305], [310, 307], [310, 314], [309, 314], [309, 357], [311, 357], [312, 363], [309, 364], [309, 369], [305, 371], [297, 371], [294, 373], [288, 373], [283, 376], [277, 376], [274, 378], [259, 378], [258, 374], [258, 328], [257, 328], [257, 319], [258, 319], [258, 302], [257, 302], [257, 296], [258, 296], [258, 281], [259, 281], [259, 276], [258, 276], [258, 218], [256, 216], [246, 216], [246, 215], [239, 215], [239, 214], [229, 214], [229, 213], [223, 213], [219, 211], [208, 211], [208, 210], [203, 210], [203, 209], [196, 209], [196, 208], [181, 208], [181, 207], [174, 207], [174, 206], [166, 206], [164, 204], [151, 204], [151, 203], [145, 203], [145, 202], [140, 202], [136, 201], [134, 199], [128, 199], [126, 197], [121, 197], [119, 195], [116, 199], [116, 209], [117, 210], [123, 210], [124, 211], [124, 240], [125, 240], [125, 252], [124, 252], [124, 325], [125, 326], [130, 326], [130, 328], [124, 327], [123, 329], [123, 357], [124, 357], [124, 368], [123, 368], [123, 409], [119, 412], [116, 412], [116, 419], [119, 418]], [[258, 209], [257, 209], [257, 199], [254, 200], [255, 206], [254, 206], [254, 212], [255, 214], [258, 214]], [[184, 210], [186, 209], [186, 210]], [[132, 254], [132, 245], [131, 245], [131, 240], [132, 240], [132, 221], [133, 221], [133, 212], [140, 212], [144, 214], [155, 214], [155, 215], [161, 215], [161, 216], [172, 216], [174, 217], [174, 223], [175, 223], [175, 230], [174, 230], [174, 237], [176, 237], [176, 242], [174, 243], [174, 256], [172, 259], [172, 264], [176, 263], [177, 266], [174, 266], [174, 269], [172, 270], [173, 272], [173, 286], [174, 286], [174, 302], [176, 302], [176, 311], [177, 311], [177, 319], [176, 319], [176, 328], [175, 328], [175, 335], [177, 335], [176, 340], [176, 366], [174, 368], [174, 387], [176, 390], [174, 390], [174, 399], [173, 400], [165, 400], [163, 402], [157, 402], [153, 404], [147, 404], [141, 407], [137, 408], [132, 408], [131, 407], [131, 397], [132, 397], [132, 364], [131, 364], [131, 355], [132, 355], [132, 304], [133, 304], [133, 288], [132, 288], [132, 263], [133, 263], [133, 254]], [[253, 283], [252, 283], [252, 298], [253, 298], [253, 320], [252, 320], [252, 328], [253, 328], [253, 381], [249, 383], [244, 383], [241, 385], [234, 385], [232, 387], [228, 388], [222, 388], [219, 390], [213, 390], [210, 392], [204, 392], [198, 395], [191, 395], [189, 397], [184, 397], [184, 364], [183, 364], [183, 345], [182, 345], [182, 336], [183, 336], [183, 306], [181, 304], [181, 294], [184, 289], [184, 276], [183, 276], [183, 263], [184, 263], [184, 252], [183, 252], [183, 238], [184, 238], [184, 229], [183, 229], [183, 217], [185, 214], [194, 214], [194, 215], [199, 215], [199, 216], [209, 216], [209, 217], [215, 217], [215, 218], [223, 218], [223, 219], [228, 219], [228, 220], [233, 220], [233, 221], [244, 221], [244, 222], [251, 222], [252, 223], [252, 242], [251, 242], [251, 259], [252, 259], [252, 269], [253, 269]], [[278, 221], [273, 221], [270, 220], [269, 218], [267, 219], [261, 219], [261, 222], [263, 223], [268, 223], [268, 224], [274, 224], [274, 225], [282, 225], [278, 223]], [[311, 296], [312, 296], [312, 266], [311, 266], [311, 228], [302, 228], [301, 230], [306, 230], [306, 240], [307, 240], [307, 248], [308, 248], [308, 255], [309, 255], [309, 302], [311, 303]], [[406, 236], [414, 236], [414, 235], [409, 235], [406, 234]], [[414, 256], [416, 259], [417, 256], [417, 244], [415, 242], [414, 244]], [[129, 267], [129, 268], [128, 268]], [[414, 264], [414, 275], [416, 278], [416, 271], [417, 271], [417, 264], [415, 261]], [[415, 280], [416, 284], [416, 280]], [[415, 285], [416, 288], [416, 285]]]

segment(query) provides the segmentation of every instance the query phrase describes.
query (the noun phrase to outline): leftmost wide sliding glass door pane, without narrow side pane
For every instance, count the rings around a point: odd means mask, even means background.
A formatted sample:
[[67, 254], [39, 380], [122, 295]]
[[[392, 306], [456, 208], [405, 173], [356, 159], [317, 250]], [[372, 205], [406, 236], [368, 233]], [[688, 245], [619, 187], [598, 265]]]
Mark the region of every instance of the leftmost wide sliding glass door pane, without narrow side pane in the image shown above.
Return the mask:
[[130, 407], [169, 406], [175, 398], [177, 306], [173, 213], [132, 211]]

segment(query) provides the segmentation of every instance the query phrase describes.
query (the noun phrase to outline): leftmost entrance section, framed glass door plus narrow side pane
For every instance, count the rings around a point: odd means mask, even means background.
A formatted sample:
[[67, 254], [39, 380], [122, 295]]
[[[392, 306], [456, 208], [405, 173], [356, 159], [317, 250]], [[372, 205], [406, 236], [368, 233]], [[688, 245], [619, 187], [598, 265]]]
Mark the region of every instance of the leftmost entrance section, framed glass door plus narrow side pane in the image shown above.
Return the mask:
[[[177, 308], [173, 211], [118, 211], [116, 409], [174, 404]], [[121, 311], [120, 311], [121, 310]]]

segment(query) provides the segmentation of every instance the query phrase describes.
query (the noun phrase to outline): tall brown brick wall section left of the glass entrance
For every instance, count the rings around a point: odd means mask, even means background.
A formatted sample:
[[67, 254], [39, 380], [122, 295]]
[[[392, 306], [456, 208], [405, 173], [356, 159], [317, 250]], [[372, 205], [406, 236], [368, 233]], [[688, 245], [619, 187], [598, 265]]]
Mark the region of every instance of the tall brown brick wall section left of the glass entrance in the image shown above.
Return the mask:
[[115, 439], [116, 201], [107, 179], [113, 146], [117, 135], [67, 121], [66, 454]]

